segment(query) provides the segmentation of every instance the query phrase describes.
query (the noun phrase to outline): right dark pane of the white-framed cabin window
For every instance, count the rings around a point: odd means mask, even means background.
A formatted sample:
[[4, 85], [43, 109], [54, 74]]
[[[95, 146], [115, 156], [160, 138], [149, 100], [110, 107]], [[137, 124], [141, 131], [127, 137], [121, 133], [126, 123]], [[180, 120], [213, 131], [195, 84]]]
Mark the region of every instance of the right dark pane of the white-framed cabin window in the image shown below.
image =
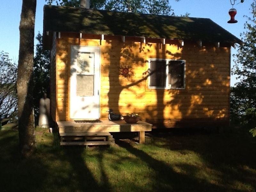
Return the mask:
[[169, 61], [168, 81], [172, 88], [184, 88], [185, 62], [180, 60]]

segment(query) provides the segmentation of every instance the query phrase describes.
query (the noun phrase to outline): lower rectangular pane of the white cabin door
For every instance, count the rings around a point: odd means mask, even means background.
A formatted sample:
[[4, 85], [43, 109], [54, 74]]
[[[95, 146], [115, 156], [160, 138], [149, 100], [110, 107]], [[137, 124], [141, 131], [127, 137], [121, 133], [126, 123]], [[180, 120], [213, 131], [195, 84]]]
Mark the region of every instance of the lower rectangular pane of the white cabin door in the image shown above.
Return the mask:
[[76, 95], [79, 97], [94, 95], [94, 75], [76, 75]]

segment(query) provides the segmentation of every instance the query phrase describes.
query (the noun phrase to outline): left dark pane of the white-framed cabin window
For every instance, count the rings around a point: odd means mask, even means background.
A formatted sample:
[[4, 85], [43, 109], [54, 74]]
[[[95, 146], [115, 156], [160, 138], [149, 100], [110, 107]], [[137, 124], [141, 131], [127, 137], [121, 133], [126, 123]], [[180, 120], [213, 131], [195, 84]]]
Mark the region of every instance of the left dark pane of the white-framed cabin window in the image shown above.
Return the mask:
[[166, 82], [166, 61], [151, 60], [150, 61], [150, 86], [165, 87]]

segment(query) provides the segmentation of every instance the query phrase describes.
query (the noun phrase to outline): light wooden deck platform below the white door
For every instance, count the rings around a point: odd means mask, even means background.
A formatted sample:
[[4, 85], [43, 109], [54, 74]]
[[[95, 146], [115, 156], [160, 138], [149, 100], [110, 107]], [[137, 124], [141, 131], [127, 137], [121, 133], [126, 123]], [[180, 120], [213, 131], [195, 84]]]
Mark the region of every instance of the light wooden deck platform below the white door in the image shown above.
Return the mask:
[[125, 121], [102, 120], [101, 123], [76, 123], [75, 121], [57, 121], [60, 136], [97, 135], [101, 132], [139, 132], [140, 143], [145, 142], [145, 131], [152, 130], [152, 124], [139, 121], [128, 124]]

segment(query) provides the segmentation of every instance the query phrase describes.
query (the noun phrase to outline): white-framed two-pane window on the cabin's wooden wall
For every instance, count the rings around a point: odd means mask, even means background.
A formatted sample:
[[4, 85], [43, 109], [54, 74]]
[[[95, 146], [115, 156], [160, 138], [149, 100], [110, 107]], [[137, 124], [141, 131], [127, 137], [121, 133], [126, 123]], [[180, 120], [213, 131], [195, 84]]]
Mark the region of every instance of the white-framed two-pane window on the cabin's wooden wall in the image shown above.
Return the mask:
[[149, 89], [185, 89], [185, 60], [149, 59]]

